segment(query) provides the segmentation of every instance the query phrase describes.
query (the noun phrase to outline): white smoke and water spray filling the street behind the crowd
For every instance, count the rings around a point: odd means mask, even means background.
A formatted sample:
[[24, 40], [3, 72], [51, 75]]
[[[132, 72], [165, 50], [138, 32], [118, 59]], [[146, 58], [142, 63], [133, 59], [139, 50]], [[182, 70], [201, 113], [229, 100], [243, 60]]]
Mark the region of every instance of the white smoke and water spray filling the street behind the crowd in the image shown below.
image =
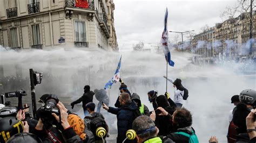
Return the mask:
[[[204, 42], [201, 45], [203, 44]], [[215, 45], [219, 47], [218, 43]], [[1, 47], [0, 65], [3, 65], [4, 76], [16, 76], [16, 65], [21, 69], [23, 79], [29, 77], [30, 68], [42, 72], [42, 84], [36, 86], [37, 99], [43, 94], [52, 93], [58, 95], [60, 101], [68, 105], [83, 94], [83, 87], [86, 84], [91, 86], [91, 90], [104, 88], [107, 81], [112, 78], [121, 54], [121, 78], [131, 93], [136, 92], [142, 103], [152, 111], [147, 92], [158, 90], [158, 95], [162, 95], [166, 88], [166, 81], [163, 78], [163, 75], [166, 75], [166, 62], [163, 54], [114, 53], [64, 48], [51, 51], [16, 52], [6, 51]], [[216, 135], [219, 142], [226, 142], [228, 112], [234, 107], [231, 104], [231, 97], [238, 95], [244, 89], [256, 89], [255, 62], [227, 61], [217, 65], [198, 66], [192, 64], [191, 59], [194, 54], [176, 51], [171, 51], [171, 54], [175, 65], [168, 66], [168, 77], [180, 78], [189, 91], [189, 97], [184, 106], [193, 113], [193, 127], [200, 142], [207, 142], [212, 135]], [[113, 84], [112, 89], [107, 90], [110, 106], [116, 102], [119, 85], [120, 83]], [[22, 86], [28, 93], [23, 103], [31, 102], [29, 81], [24, 82]], [[173, 98], [173, 91], [172, 84], [168, 82], [171, 98]], [[93, 99], [93, 102], [98, 101]], [[68, 108], [70, 109], [70, 106]], [[76, 105], [73, 111], [78, 112], [83, 118], [82, 110]], [[116, 128], [116, 116], [107, 114], [106, 111], [103, 113], [111, 128]]]

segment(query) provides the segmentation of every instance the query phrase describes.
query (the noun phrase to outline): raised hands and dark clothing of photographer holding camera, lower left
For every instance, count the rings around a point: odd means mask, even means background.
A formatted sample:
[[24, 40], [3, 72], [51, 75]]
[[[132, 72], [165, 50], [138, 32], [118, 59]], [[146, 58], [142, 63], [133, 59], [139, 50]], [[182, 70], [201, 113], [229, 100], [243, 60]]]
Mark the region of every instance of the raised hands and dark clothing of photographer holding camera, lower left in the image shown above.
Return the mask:
[[[39, 121], [36, 126], [36, 131], [37, 131], [36, 134], [38, 135], [38, 137], [41, 138], [43, 142], [78, 142], [80, 141], [79, 136], [75, 133], [73, 128], [69, 125], [68, 113], [67, 113], [68, 109], [66, 109], [61, 102], [58, 102], [56, 106], [59, 109], [59, 116], [56, 115], [56, 113], [51, 113], [51, 116], [55, 119], [55, 121], [57, 121], [58, 123], [56, 125], [57, 127], [53, 127], [52, 125], [50, 126], [49, 123], [45, 125], [43, 123], [43, 120], [39, 118]], [[63, 135], [65, 139], [63, 138]]]

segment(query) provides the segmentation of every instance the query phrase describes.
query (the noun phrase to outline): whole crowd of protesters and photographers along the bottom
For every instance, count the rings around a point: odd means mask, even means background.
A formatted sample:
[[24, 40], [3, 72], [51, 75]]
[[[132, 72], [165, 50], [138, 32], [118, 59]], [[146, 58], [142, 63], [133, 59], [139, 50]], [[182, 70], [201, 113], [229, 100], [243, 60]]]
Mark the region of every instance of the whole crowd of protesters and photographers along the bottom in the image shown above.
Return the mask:
[[[27, 106], [17, 110], [15, 106], [0, 105], [0, 142], [107, 142], [111, 126], [100, 109], [116, 115], [118, 143], [199, 142], [192, 127], [192, 113], [183, 107], [188, 90], [179, 78], [165, 78], [173, 83], [173, 99], [167, 92], [164, 95], [158, 95], [156, 90], [147, 92], [153, 111], [149, 111], [138, 94], [131, 94], [121, 79], [120, 95], [114, 106], [109, 105], [105, 89], [92, 91], [89, 85], [84, 86], [84, 94], [70, 103], [73, 109], [82, 102], [84, 119], [68, 110], [53, 94], [39, 98], [42, 106], [35, 116]], [[93, 96], [99, 101], [97, 110]], [[243, 90], [231, 98], [231, 103], [235, 107], [229, 115], [227, 141], [256, 142], [256, 91]], [[210, 137], [209, 142], [218, 142], [218, 139]]]

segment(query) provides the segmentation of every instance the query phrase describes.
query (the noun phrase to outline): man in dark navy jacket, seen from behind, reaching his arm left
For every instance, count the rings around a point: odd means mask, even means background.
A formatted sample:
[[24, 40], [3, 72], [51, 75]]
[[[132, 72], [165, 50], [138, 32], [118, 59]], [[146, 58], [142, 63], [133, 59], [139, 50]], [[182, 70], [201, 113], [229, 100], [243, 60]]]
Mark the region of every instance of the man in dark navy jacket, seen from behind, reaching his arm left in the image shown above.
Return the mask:
[[[126, 131], [132, 128], [132, 122], [140, 115], [138, 107], [135, 102], [131, 101], [130, 95], [123, 92], [119, 96], [120, 108], [108, 107], [103, 104], [103, 108], [107, 112], [117, 115], [117, 142], [123, 142], [126, 138]], [[126, 140], [125, 142], [136, 142], [136, 140]]]

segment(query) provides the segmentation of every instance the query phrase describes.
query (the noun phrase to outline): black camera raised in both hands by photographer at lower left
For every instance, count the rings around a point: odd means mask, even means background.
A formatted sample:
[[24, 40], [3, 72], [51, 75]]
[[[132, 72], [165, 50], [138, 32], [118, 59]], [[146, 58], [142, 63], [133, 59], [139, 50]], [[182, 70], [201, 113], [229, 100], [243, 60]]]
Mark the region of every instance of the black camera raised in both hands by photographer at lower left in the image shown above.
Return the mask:
[[57, 103], [59, 99], [57, 95], [50, 94], [46, 99], [46, 103], [44, 106], [38, 109], [37, 117], [41, 118], [44, 124], [53, 125], [57, 124], [56, 119], [51, 115], [55, 113], [57, 116], [59, 115], [59, 109], [57, 108]]

